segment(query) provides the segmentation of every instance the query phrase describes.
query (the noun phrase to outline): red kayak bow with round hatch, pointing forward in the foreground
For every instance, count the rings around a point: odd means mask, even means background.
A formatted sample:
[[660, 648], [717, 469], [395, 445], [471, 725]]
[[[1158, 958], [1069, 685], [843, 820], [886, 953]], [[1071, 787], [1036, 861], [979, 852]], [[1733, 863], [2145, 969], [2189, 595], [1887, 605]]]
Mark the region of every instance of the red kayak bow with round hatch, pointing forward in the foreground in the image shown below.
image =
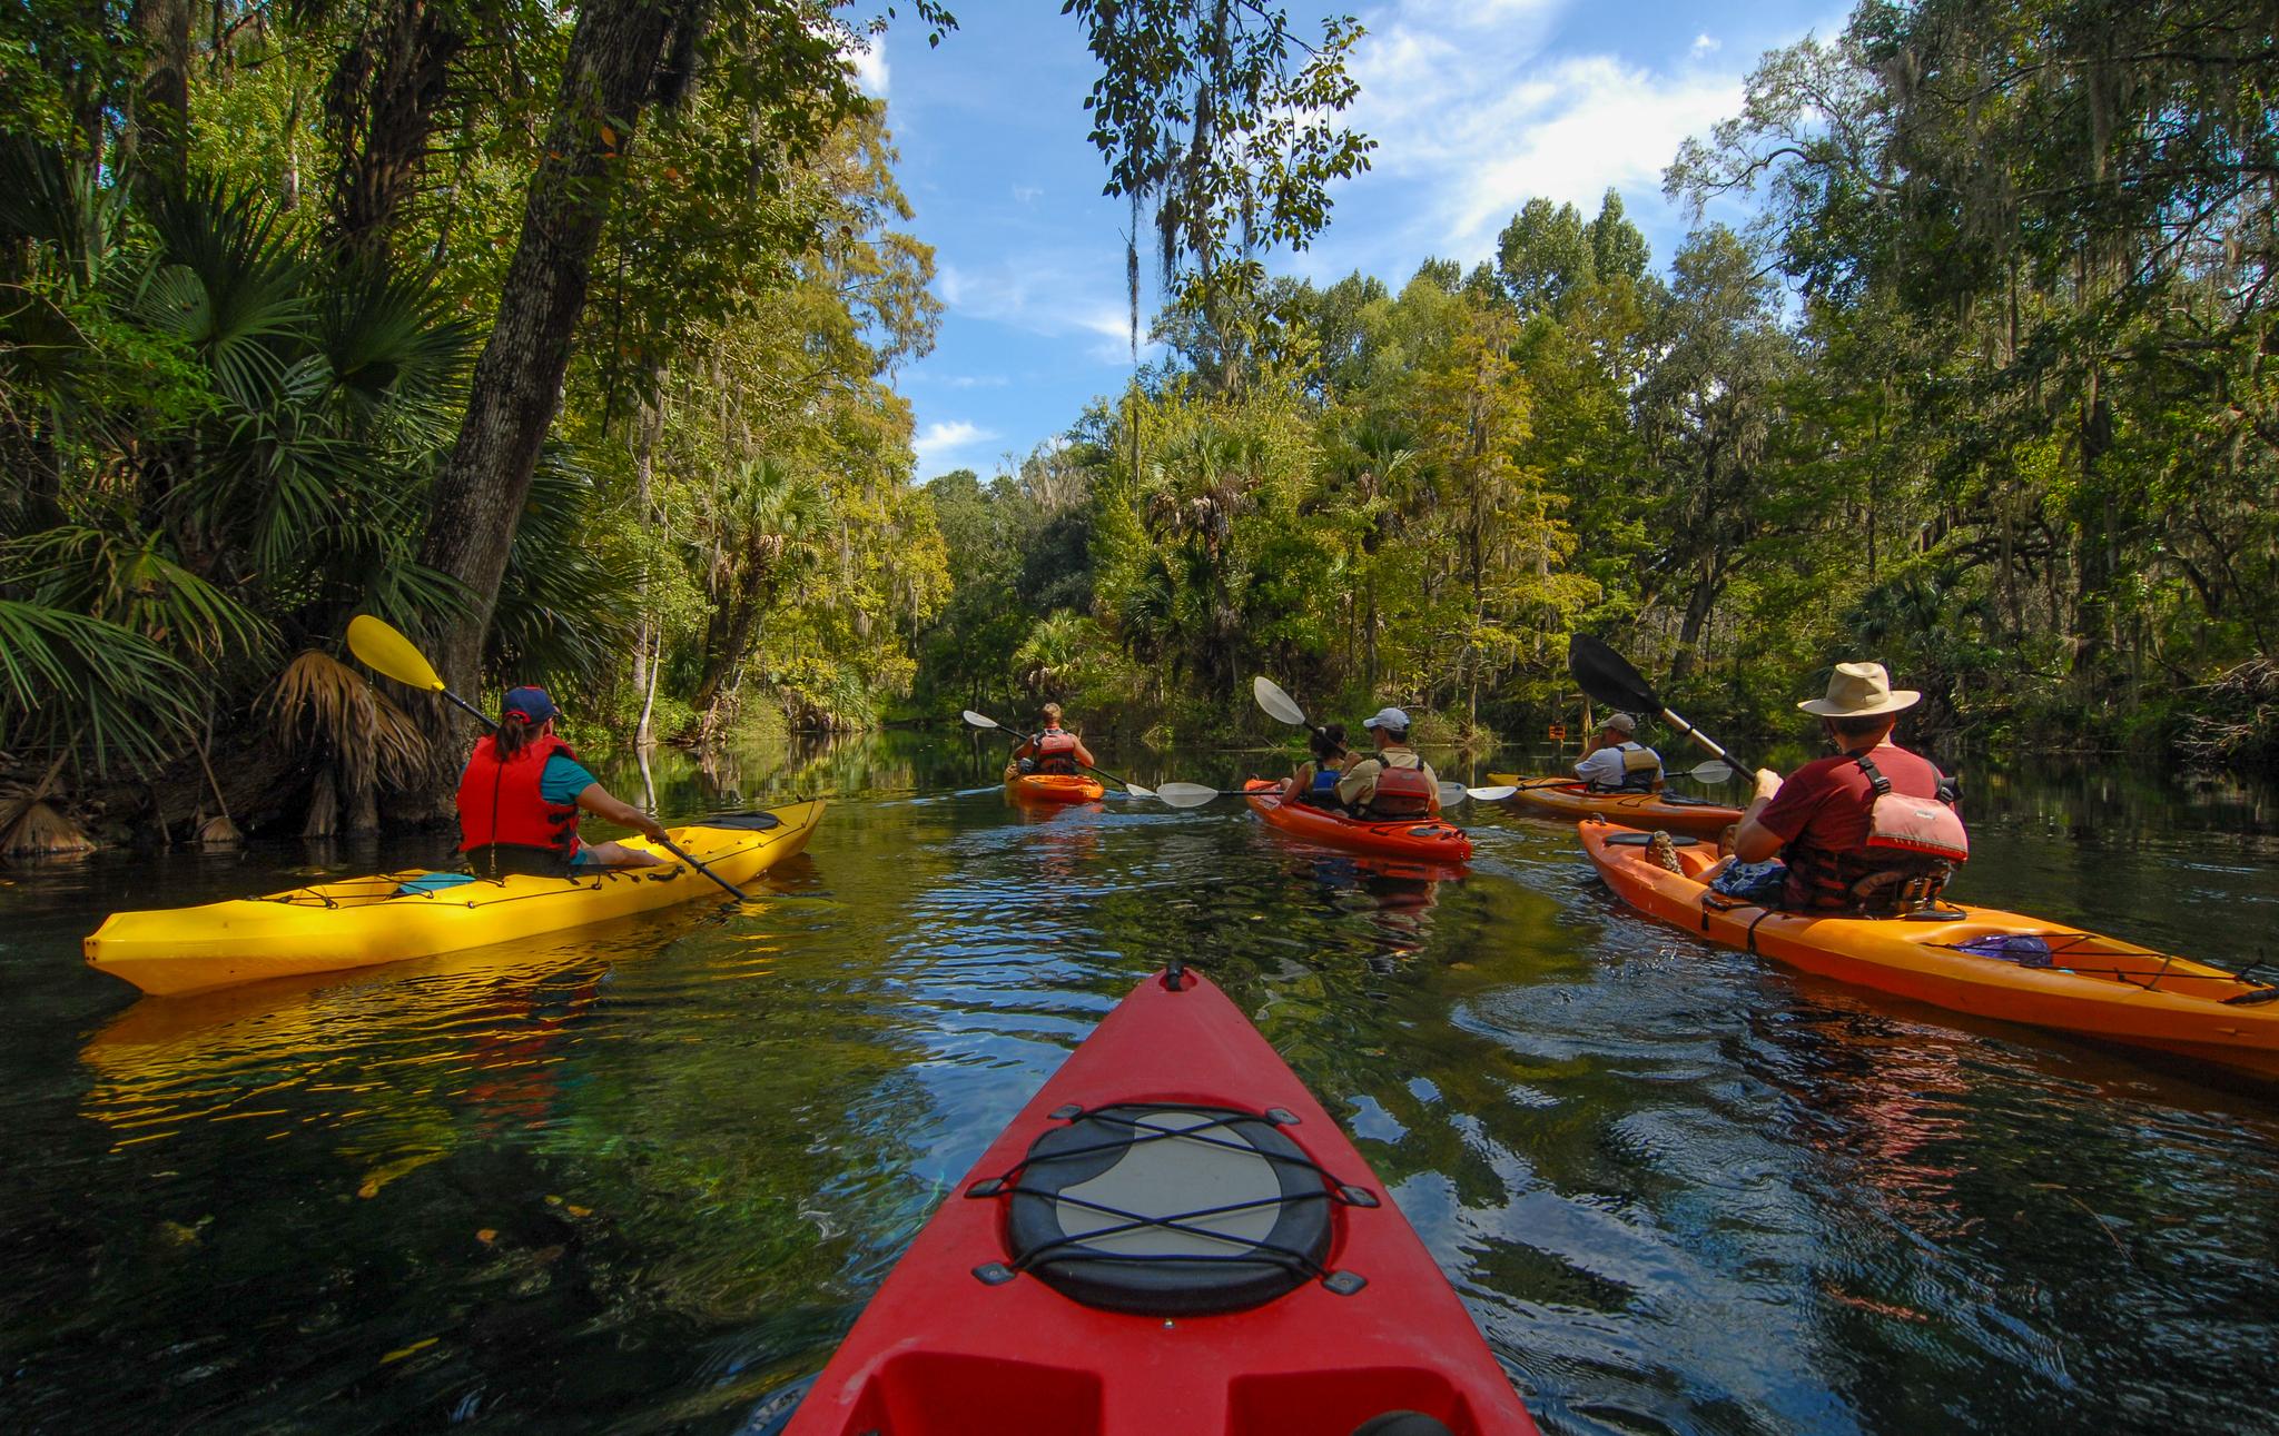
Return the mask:
[[786, 1436], [1534, 1436], [1258, 1028], [1142, 982], [918, 1231]]

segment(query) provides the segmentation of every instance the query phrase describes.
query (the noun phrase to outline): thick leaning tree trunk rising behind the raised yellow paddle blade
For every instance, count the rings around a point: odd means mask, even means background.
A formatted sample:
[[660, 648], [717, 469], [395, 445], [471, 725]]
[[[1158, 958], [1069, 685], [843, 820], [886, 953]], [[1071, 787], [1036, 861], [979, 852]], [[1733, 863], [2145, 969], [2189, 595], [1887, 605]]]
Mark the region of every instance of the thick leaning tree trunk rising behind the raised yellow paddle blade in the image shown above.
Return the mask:
[[[422, 563], [465, 588], [465, 611], [433, 643], [442, 679], [463, 693], [481, 677], [515, 520], [561, 406], [570, 340], [593, 283], [593, 253], [608, 219], [622, 146], [647, 107], [681, 5], [686, 0], [593, 0], [579, 9], [570, 36], [545, 160], [531, 176], [522, 237], [499, 287], [499, 317], [474, 365], [458, 442], [435, 476], [419, 549]], [[456, 784], [458, 725], [449, 709], [431, 702], [426, 727], [435, 752], [426, 798], [431, 816], [440, 816]]]

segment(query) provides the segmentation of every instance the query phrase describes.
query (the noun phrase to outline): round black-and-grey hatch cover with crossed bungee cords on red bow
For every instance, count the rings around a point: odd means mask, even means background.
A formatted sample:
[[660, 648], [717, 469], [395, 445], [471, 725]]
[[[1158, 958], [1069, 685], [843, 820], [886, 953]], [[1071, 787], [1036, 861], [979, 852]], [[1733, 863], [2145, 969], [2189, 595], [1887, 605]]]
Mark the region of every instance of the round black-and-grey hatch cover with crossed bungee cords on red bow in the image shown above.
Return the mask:
[[1137, 1315], [1212, 1315], [1263, 1306], [1308, 1281], [1349, 1295], [1354, 1272], [1326, 1272], [1333, 1206], [1377, 1206], [1340, 1183], [1281, 1128], [1283, 1110], [1117, 1103], [1057, 1112], [1014, 1172], [966, 1197], [1007, 1197], [1005, 1263], [982, 1281], [1028, 1272], [1060, 1295]]

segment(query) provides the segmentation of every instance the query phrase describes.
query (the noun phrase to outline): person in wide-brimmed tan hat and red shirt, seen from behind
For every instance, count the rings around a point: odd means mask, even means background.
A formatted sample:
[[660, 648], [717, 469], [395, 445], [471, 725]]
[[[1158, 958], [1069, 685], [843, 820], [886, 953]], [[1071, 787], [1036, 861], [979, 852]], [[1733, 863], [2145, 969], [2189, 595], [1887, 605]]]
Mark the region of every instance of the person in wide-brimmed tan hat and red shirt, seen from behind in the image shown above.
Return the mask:
[[1734, 859], [1787, 862], [1782, 907], [1908, 912], [1935, 903], [1969, 857], [1953, 780], [1892, 743], [1898, 716], [1919, 700], [1914, 688], [1892, 688], [1882, 663], [1837, 663], [1828, 695], [1796, 704], [1819, 716], [1837, 757], [1787, 782], [1757, 768], [1757, 798], [1732, 834]]

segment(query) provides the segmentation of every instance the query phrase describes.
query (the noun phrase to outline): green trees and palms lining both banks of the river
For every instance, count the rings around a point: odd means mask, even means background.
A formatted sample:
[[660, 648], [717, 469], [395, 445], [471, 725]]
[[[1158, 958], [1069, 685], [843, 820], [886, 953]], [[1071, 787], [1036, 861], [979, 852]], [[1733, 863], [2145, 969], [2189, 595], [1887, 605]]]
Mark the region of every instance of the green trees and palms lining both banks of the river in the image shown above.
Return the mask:
[[465, 732], [358, 611], [611, 743], [1258, 741], [1269, 672], [1488, 748], [1575, 732], [1591, 631], [1737, 741], [1873, 656], [1946, 750], [2279, 770], [2252, 18], [1869, 2], [1673, 157], [1750, 223], [1534, 198], [1313, 285], [1361, 27], [1140, 11], [1069, 14], [1162, 358], [985, 476], [914, 472], [941, 305], [864, 16], [7, 7], [0, 848], [444, 821]]

